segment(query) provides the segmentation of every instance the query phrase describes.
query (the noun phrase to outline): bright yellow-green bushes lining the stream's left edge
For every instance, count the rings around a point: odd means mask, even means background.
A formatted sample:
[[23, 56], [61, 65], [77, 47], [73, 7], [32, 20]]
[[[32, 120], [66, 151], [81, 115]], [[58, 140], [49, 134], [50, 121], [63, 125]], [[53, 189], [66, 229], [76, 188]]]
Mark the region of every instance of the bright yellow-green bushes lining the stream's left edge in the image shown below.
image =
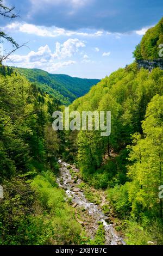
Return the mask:
[[49, 220], [53, 235], [51, 243], [68, 245], [78, 243], [80, 225], [74, 216], [74, 209], [65, 202], [65, 192], [56, 186], [51, 171], [38, 175], [32, 182], [37, 199], [45, 210], [44, 221]]

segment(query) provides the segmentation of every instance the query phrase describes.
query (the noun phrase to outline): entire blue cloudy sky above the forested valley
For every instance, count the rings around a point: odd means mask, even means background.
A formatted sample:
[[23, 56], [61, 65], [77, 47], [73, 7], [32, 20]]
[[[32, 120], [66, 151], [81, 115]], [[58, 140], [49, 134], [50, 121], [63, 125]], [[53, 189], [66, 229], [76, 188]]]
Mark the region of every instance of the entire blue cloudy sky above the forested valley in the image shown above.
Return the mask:
[[[8, 65], [52, 74], [103, 78], [133, 62], [133, 51], [162, 17], [161, 0], [5, 0], [16, 19], [0, 18], [1, 29], [27, 43]], [[8, 52], [11, 46], [3, 45]]]

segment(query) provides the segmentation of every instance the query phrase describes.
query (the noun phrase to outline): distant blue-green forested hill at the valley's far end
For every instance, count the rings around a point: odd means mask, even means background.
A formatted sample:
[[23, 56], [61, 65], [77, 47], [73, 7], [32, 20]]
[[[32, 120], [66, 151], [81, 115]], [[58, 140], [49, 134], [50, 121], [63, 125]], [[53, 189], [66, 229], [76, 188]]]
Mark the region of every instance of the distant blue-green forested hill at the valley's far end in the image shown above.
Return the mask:
[[44, 92], [53, 95], [62, 104], [68, 105], [77, 97], [83, 96], [99, 82], [98, 79], [82, 79], [67, 75], [49, 74], [41, 69], [13, 68], [15, 71], [35, 82]]

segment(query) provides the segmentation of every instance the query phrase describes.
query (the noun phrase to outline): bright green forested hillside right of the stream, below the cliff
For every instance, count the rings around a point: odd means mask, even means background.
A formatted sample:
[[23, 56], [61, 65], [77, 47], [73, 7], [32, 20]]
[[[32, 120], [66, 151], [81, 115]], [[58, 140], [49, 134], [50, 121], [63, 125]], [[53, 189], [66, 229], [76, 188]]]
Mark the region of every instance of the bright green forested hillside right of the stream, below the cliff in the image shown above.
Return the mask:
[[71, 105], [79, 112], [111, 111], [109, 137], [80, 131], [70, 144], [72, 150], [77, 144], [74, 160], [84, 180], [108, 193], [129, 244], [162, 243], [162, 89], [162, 70], [139, 70], [133, 63]]

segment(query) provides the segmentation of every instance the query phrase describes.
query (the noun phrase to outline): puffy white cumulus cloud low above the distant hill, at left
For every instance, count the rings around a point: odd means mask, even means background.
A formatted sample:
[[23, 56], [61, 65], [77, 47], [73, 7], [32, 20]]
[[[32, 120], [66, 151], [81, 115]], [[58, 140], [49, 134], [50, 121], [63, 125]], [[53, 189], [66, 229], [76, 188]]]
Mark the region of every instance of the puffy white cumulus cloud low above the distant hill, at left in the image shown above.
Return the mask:
[[41, 46], [35, 51], [30, 51], [27, 55], [12, 54], [9, 63], [23, 68], [39, 68], [48, 72], [61, 69], [64, 66], [75, 64], [74, 60], [57, 61], [74, 56], [80, 47], [85, 47], [84, 42], [79, 39], [68, 39], [63, 44], [56, 43], [55, 51], [52, 52], [48, 45]]

